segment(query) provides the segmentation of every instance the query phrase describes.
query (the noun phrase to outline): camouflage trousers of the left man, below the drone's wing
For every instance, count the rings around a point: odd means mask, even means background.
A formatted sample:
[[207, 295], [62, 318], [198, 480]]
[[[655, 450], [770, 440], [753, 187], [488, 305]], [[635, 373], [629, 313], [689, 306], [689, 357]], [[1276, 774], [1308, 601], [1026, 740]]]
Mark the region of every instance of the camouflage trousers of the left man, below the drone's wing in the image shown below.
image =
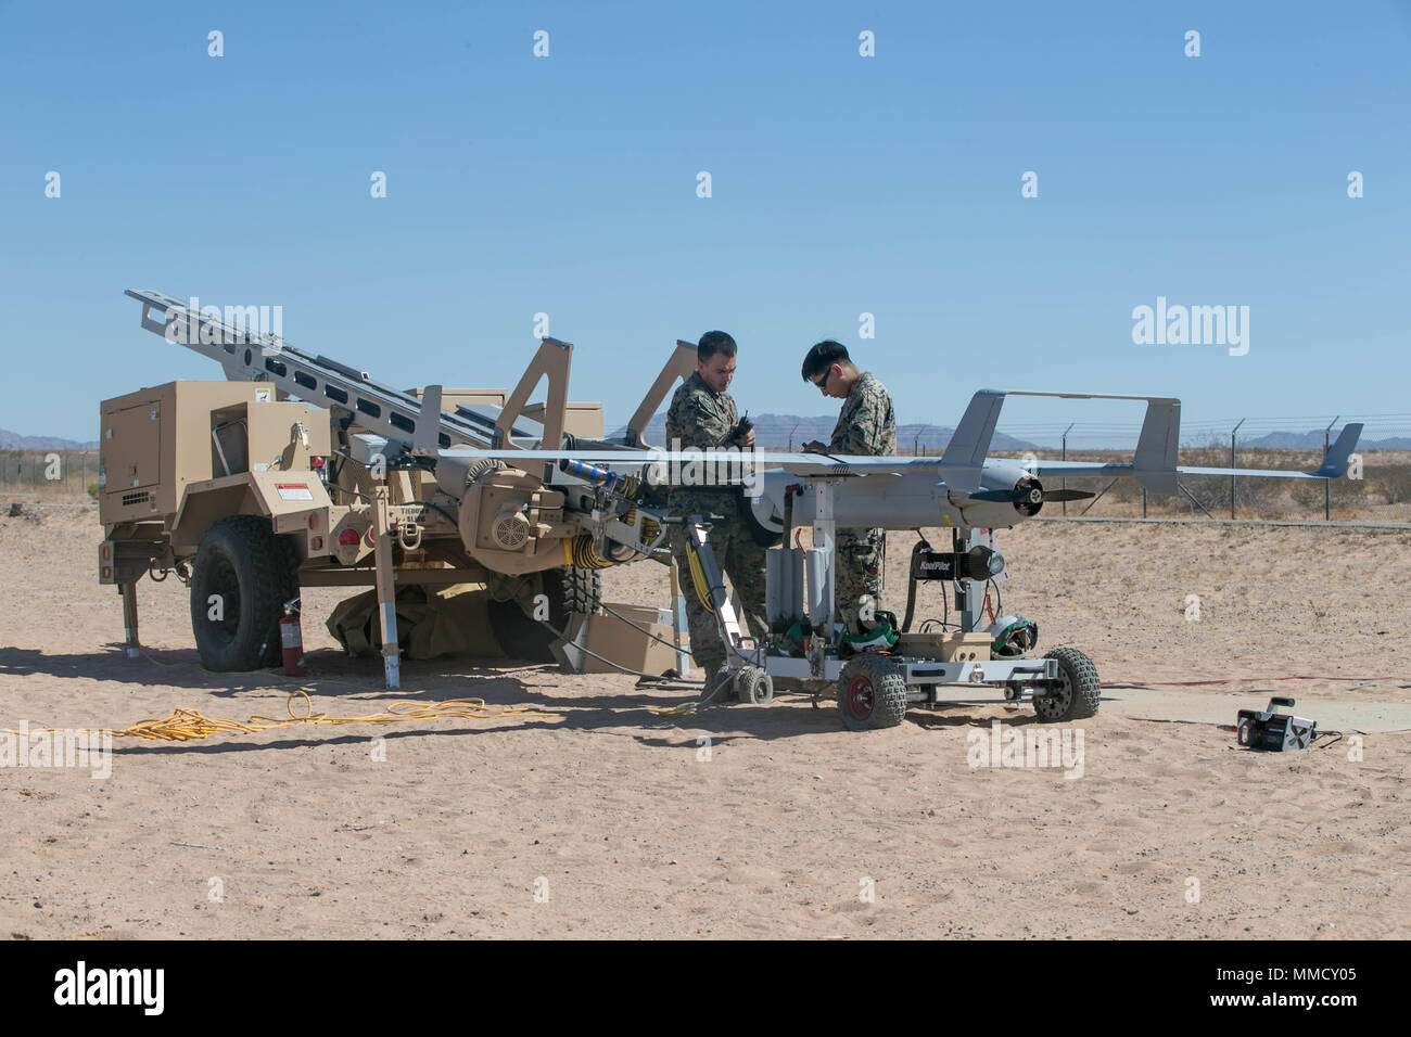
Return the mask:
[[[690, 516], [693, 514], [722, 511], [728, 518], [717, 518], [706, 535], [706, 542], [715, 554], [715, 564], [729, 577], [739, 597], [745, 615], [739, 619], [741, 633], [763, 636], [769, 632], [765, 619], [765, 549], [755, 540], [753, 533], [744, 522], [735, 516], [735, 501], [706, 498], [701, 499], [672, 499], [673, 515]], [[707, 514], [708, 518], [708, 514]], [[691, 580], [690, 567], [690, 533], [684, 526], [670, 526], [667, 530], [672, 556], [682, 570], [682, 595], [686, 598], [686, 622], [691, 635], [691, 657], [696, 665], [714, 670], [725, 663], [725, 642], [720, 635], [720, 625], [715, 612], [701, 604]], [[710, 590], [703, 588], [703, 594], [710, 600]], [[746, 622], [748, 619], [748, 622]]]

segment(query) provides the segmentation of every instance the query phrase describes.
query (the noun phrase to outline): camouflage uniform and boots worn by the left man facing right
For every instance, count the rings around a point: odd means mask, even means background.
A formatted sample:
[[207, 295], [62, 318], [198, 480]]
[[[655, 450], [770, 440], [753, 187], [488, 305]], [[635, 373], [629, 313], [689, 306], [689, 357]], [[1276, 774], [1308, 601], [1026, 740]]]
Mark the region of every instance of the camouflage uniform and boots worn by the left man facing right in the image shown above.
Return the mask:
[[[701, 381], [697, 371], [672, 396], [672, 406], [666, 412], [667, 449], [704, 450], [734, 446], [737, 425], [735, 401], [728, 392], [714, 392]], [[684, 470], [687, 466], [682, 467]], [[711, 466], [707, 463], [701, 467], [710, 470]], [[763, 635], [769, 629], [765, 621], [765, 549], [744, 522], [742, 509], [748, 508], [749, 502], [739, 487], [672, 487], [666, 501], [673, 516], [701, 515], [713, 522], [707, 542], [715, 553], [717, 564], [729, 577], [739, 595], [739, 604], [745, 611], [745, 615], [739, 617], [741, 632]], [[691, 656], [707, 676], [713, 676], [725, 665], [725, 642], [721, 639], [715, 612], [703, 605], [696, 594], [696, 584], [690, 576], [686, 528], [670, 526], [667, 538], [676, 564], [682, 570]]]

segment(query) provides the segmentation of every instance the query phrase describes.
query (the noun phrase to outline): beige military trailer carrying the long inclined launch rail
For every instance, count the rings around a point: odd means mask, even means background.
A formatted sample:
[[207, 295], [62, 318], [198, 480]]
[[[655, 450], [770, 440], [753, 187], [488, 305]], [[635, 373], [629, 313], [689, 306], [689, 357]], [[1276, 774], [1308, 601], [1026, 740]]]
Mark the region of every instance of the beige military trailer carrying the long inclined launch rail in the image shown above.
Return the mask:
[[[669, 562], [641, 463], [574, 470], [440, 451], [642, 447], [645, 423], [694, 370], [691, 343], [672, 350], [626, 435], [604, 439], [601, 406], [567, 399], [573, 346], [556, 339], [540, 341], [514, 391], [398, 391], [172, 296], [127, 295], [143, 305], [143, 327], [227, 377], [102, 404], [99, 580], [121, 591], [130, 655], [137, 581], [175, 573], [190, 587], [202, 663], [217, 672], [278, 663], [278, 624], [302, 587], [375, 587], [395, 687], [396, 588], [413, 584], [483, 586], [490, 632], [512, 657], [581, 659], [563, 642], [593, 652], [597, 636], [600, 649], [662, 662], [624, 645], [645, 633], [584, 622], [600, 611], [600, 569]], [[531, 405], [545, 380], [546, 401]]]

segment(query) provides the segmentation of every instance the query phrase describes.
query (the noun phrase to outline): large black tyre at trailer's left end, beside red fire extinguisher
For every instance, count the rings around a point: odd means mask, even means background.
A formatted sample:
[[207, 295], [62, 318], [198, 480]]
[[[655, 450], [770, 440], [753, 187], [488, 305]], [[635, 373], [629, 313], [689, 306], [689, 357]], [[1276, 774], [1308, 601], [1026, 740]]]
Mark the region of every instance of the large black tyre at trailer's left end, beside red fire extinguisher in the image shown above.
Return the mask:
[[202, 666], [240, 673], [278, 665], [279, 617], [298, 594], [298, 559], [268, 519], [217, 519], [200, 539], [190, 576], [190, 628]]

